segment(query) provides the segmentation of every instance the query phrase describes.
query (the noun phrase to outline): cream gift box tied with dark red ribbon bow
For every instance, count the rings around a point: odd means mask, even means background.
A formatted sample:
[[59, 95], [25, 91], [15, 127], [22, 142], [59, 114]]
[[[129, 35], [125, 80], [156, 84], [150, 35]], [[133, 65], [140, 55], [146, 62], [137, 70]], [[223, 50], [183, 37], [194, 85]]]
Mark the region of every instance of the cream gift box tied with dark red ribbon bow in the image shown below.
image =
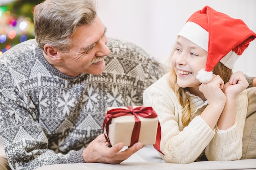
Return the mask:
[[156, 144], [161, 138], [157, 114], [152, 107], [108, 107], [105, 117], [103, 131], [112, 146], [119, 142], [125, 146], [136, 142]]

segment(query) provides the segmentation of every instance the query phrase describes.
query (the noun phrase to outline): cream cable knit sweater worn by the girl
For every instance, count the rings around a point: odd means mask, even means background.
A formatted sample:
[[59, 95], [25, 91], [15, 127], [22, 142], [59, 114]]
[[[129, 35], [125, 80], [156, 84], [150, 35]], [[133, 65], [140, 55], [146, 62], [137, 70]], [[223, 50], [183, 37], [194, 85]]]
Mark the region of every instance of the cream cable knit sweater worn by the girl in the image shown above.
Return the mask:
[[[171, 87], [168, 74], [164, 75], [144, 91], [144, 105], [150, 105], [158, 114], [161, 124], [161, 155], [168, 163], [191, 163], [205, 149], [209, 161], [230, 161], [242, 156], [242, 137], [248, 107], [247, 93], [244, 91], [236, 98], [236, 124], [226, 131], [216, 127], [214, 131], [200, 117], [208, 102], [198, 96], [187, 94], [191, 105], [191, 122], [182, 126], [182, 107]], [[141, 153], [142, 150], [139, 150]], [[149, 152], [149, 150], [147, 150]], [[148, 157], [147, 153], [141, 157]], [[157, 160], [156, 155], [151, 160]], [[150, 158], [147, 158], [150, 160]], [[157, 160], [159, 161], [159, 160]]]

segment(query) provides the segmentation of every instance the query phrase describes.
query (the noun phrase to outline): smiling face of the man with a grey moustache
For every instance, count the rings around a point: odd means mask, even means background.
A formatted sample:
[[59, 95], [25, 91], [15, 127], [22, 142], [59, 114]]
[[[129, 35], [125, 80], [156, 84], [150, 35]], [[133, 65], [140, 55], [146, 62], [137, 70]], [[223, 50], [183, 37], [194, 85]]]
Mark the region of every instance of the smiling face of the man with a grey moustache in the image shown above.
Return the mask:
[[69, 52], [58, 51], [61, 63], [56, 68], [67, 75], [80, 73], [101, 74], [105, 69], [104, 57], [110, 54], [106, 46], [106, 27], [97, 16], [92, 24], [79, 26], [70, 38]]

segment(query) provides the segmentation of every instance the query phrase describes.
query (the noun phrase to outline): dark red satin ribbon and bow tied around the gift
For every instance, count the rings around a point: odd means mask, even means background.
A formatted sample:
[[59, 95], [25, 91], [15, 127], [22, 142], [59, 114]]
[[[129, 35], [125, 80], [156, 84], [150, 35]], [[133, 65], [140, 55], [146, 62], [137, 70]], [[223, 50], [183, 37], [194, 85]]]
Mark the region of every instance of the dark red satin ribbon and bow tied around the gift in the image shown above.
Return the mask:
[[[141, 122], [140, 122], [138, 116], [141, 116], [143, 118], [157, 118], [157, 113], [155, 113], [155, 111], [153, 110], [152, 107], [139, 106], [139, 107], [132, 108], [130, 106], [127, 106], [127, 108], [128, 108], [128, 110], [116, 108], [116, 109], [111, 109], [111, 110], [107, 111], [107, 113], [105, 113], [106, 118], [103, 122], [103, 131], [104, 131], [104, 128], [106, 127], [106, 133], [108, 135], [108, 131], [109, 131], [108, 126], [109, 126], [109, 124], [111, 124], [112, 118], [117, 118], [119, 116], [134, 115], [135, 125], [132, 130], [132, 137], [131, 137], [131, 142], [130, 142], [130, 146], [132, 146], [133, 144], [135, 144], [136, 142], [139, 141], [139, 131], [140, 131]], [[110, 143], [110, 140], [108, 139], [107, 135], [105, 135], [105, 138], [108, 141], [108, 143]], [[158, 150], [160, 153], [162, 153], [160, 151], [160, 140], [161, 140], [161, 126], [160, 126], [160, 123], [158, 122], [157, 136], [156, 136], [155, 144], [153, 146], [156, 150]]]

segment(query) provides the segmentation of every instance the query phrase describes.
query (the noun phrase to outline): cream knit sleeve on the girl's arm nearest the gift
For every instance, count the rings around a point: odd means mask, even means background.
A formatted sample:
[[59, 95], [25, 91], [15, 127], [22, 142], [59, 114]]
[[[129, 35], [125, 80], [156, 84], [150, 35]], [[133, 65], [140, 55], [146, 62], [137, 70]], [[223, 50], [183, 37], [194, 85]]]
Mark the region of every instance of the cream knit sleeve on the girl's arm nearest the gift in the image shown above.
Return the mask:
[[144, 91], [144, 105], [158, 114], [162, 129], [160, 149], [168, 163], [191, 163], [202, 153], [215, 134], [200, 116], [183, 129], [182, 107], [168, 85], [168, 74]]

